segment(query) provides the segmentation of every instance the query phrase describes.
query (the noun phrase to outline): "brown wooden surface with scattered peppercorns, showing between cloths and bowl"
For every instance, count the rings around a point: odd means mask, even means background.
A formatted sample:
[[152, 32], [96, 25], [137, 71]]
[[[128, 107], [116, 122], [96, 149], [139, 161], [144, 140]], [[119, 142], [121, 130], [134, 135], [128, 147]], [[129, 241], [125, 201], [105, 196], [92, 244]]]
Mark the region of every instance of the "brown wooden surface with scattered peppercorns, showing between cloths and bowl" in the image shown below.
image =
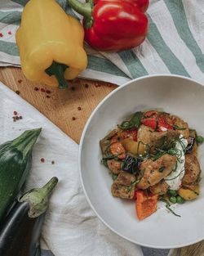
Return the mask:
[[[80, 141], [86, 120], [95, 106], [117, 88], [111, 83], [76, 79], [69, 83], [67, 90], [59, 91], [44, 84], [29, 82], [21, 70], [14, 67], [0, 68], [0, 81], [11, 90], [20, 92], [20, 97], [36, 107], [76, 142]], [[204, 242], [175, 249], [171, 256], [204, 256]]]

